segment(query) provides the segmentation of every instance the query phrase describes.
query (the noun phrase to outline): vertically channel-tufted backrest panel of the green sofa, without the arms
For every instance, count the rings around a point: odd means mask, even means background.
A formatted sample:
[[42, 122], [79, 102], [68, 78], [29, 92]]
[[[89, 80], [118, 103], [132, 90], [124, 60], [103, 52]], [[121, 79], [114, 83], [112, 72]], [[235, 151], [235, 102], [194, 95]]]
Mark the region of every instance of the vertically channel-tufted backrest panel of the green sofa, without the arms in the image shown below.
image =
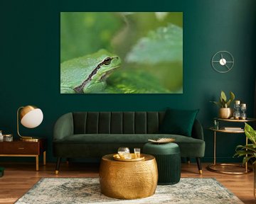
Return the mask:
[[165, 112], [74, 112], [74, 134], [154, 134]]

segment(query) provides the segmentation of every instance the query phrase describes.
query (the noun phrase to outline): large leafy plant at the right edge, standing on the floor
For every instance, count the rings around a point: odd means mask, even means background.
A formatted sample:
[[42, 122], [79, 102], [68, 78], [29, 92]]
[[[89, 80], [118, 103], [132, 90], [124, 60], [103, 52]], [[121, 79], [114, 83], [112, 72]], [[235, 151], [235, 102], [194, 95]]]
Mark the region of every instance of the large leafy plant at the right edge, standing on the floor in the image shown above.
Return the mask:
[[235, 149], [234, 157], [243, 157], [242, 165], [246, 162], [252, 162], [254, 171], [254, 196], [256, 198], [256, 131], [245, 123], [245, 135], [252, 142], [249, 145], [238, 145]]

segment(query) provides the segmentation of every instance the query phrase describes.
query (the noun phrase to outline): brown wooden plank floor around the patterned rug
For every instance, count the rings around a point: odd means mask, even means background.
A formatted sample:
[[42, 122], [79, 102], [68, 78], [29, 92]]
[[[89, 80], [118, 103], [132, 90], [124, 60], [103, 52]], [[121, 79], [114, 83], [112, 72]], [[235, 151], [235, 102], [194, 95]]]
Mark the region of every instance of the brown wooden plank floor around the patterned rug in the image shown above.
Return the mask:
[[[0, 178], [0, 203], [14, 203], [23, 196], [41, 177], [98, 177], [99, 164], [61, 164], [60, 173], [54, 174], [55, 164], [40, 166], [35, 171], [32, 163], [0, 163], [5, 168]], [[206, 170], [203, 164], [203, 175], [197, 174], [196, 164], [182, 164], [181, 177], [215, 178], [232, 191], [244, 203], [256, 203], [253, 196], [253, 173], [243, 175], [216, 174]], [[42, 203], [43, 204], [43, 203]]]

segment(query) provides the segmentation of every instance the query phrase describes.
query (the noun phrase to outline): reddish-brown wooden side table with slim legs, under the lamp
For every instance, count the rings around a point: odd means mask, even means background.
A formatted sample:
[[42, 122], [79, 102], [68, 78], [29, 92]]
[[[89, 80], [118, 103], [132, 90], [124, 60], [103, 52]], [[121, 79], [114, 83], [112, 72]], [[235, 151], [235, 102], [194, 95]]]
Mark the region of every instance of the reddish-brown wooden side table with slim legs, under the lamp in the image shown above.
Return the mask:
[[43, 165], [46, 165], [46, 139], [38, 142], [14, 140], [0, 142], [0, 157], [36, 157], [36, 171], [38, 171], [39, 156], [43, 153]]

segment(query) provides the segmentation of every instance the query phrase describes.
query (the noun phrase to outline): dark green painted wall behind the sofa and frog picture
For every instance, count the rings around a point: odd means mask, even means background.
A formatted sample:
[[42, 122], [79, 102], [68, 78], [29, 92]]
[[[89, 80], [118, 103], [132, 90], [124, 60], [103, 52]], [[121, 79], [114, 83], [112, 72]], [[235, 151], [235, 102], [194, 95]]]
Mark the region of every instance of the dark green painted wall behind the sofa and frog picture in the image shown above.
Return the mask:
[[[247, 103], [252, 117], [255, 91], [256, 1], [0, 1], [1, 100], [0, 130], [16, 133], [16, 110], [40, 107], [43, 123], [23, 135], [48, 138], [48, 160], [55, 120], [70, 111], [159, 111], [166, 107], [200, 108], [205, 128], [206, 157], [213, 155], [213, 132], [207, 130], [218, 109], [209, 101], [220, 91], [233, 91]], [[60, 11], [182, 11], [183, 94], [60, 94]], [[210, 66], [215, 52], [233, 53], [235, 65], [227, 74]], [[16, 136], [17, 138], [17, 136]], [[218, 157], [231, 161], [244, 135], [220, 135]], [[0, 158], [3, 159], [3, 158]], [[11, 158], [9, 158], [11, 159]], [[1, 161], [1, 160], [0, 160]]]

